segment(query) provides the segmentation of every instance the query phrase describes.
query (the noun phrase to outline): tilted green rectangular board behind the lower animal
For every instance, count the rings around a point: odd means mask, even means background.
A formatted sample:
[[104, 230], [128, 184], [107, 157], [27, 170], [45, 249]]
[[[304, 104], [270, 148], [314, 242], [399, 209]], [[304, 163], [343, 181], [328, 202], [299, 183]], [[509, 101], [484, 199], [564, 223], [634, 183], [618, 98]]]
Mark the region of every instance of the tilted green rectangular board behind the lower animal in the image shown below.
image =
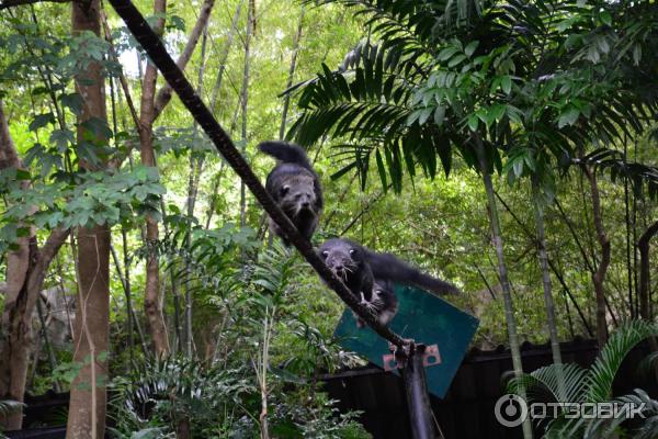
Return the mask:
[[[428, 390], [444, 397], [462, 359], [468, 349], [479, 320], [441, 297], [413, 286], [395, 285], [399, 309], [389, 327], [405, 338], [439, 348], [439, 362], [426, 368]], [[347, 309], [334, 336], [345, 349], [384, 368], [384, 356], [390, 353], [388, 342], [370, 327], [358, 328], [352, 312]], [[395, 363], [393, 363], [395, 365]], [[397, 370], [394, 373], [399, 374]]]

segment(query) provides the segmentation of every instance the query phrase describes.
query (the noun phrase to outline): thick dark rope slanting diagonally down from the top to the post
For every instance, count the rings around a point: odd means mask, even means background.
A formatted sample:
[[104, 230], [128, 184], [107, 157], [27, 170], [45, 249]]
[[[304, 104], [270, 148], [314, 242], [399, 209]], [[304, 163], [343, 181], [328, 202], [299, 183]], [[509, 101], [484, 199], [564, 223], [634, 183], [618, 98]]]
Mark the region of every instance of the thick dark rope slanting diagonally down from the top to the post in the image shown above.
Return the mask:
[[141, 13], [133, 5], [131, 0], [109, 0], [116, 13], [126, 23], [137, 42], [148, 54], [150, 61], [160, 70], [167, 82], [179, 95], [190, 114], [196, 123], [213, 140], [217, 150], [224, 156], [226, 161], [242, 179], [258, 202], [263, 206], [270, 217], [281, 227], [287, 239], [302, 254], [304, 259], [317, 271], [317, 273], [336, 291], [339, 297], [350, 306], [367, 325], [379, 336], [400, 348], [408, 348], [410, 340], [405, 340], [388, 327], [379, 324], [370, 309], [362, 306], [356, 297], [348, 288], [333, 274], [325, 262], [318, 257], [310, 243], [303, 238], [293, 225], [290, 218], [283, 213], [279, 205], [272, 200], [265, 188], [260, 183], [258, 177], [253, 173], [247, 161], [236, 149], [228, 134], [217, 123], [211, 111], [203, 103], [201, 98], [194, 91], [192, 85], [188, 81], [184, 74], [175, 65], [173, 59], [167, 53], [160, 38], [152, 32], [150, 26], [141, 16]]

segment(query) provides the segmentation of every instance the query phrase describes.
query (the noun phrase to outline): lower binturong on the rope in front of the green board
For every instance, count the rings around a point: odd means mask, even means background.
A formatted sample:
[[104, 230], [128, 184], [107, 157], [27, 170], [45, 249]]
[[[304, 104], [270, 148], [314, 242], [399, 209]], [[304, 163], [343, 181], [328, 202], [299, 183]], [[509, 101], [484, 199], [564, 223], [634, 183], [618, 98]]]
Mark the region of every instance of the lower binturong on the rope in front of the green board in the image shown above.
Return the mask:
[[[411, 284], [436, 294], [457, 294], [453, 284], [421, 273], [390, 254], [377, 254], [349, 239], [329, 239], [319, 255], [361, 302], [373, 309], [379, 323], [388, 324], [398, 308], [393, 283]], [[363, 322], [358, 318], [358, 325]]]

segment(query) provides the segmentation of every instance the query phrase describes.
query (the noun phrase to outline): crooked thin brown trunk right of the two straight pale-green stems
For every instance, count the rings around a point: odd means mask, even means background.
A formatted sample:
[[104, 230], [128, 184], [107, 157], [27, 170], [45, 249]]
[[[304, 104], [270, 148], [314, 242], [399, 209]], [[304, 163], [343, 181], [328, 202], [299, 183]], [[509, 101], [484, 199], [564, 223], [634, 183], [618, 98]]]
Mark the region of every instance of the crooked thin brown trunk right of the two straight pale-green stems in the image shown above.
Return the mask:
[[594, 228], [597, 230], [597, 239], [601, 246], [601, 261], [592, 274], [592, 282], [594, 284], [594, 293], [597, 297], [597, 340], [599, 341], [599, 348], [603, 348], [603, 345], [605, 345], [605, 341], [608, 341], [608, 322], [605, 320], [605, 291], [603, 288], [603, 281], [605, 279], [605, 273], [608, 272], [608, 267], [610, 266], [611, 245], [610, 239], [605, 234], [605, 229], [603, 228], [597, 171], [589, 169], [587, 166], [585, 166], [582, 169], [590, 183], [590, 193], [592, 196], [592, 218], [594, 222]]

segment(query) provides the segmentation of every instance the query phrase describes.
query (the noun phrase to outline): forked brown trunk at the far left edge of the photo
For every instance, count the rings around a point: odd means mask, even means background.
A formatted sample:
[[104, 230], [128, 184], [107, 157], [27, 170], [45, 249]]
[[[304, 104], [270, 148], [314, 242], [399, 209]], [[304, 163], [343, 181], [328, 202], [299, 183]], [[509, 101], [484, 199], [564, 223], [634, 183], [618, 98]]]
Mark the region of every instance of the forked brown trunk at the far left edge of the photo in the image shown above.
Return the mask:
[[[5, 168], [21, 169], [22, 164], [0, 101], [0, 169]], [[27, 180], [21, 187], [27, 189]], [[54, 229], [39, 250], [34, 227], [29, 227], [29, 230], [27, 236], [16, 239], [16, 249], [7, 254], [7, 289], [0, 320], [0, 399], [19, 402], [23, 402], [25, 393], [34, 307], [48, 267], [69, 233], [68, 229]], [[0, 417], [0, 423], [4, 429], [20, 429], [23, 410]]]

